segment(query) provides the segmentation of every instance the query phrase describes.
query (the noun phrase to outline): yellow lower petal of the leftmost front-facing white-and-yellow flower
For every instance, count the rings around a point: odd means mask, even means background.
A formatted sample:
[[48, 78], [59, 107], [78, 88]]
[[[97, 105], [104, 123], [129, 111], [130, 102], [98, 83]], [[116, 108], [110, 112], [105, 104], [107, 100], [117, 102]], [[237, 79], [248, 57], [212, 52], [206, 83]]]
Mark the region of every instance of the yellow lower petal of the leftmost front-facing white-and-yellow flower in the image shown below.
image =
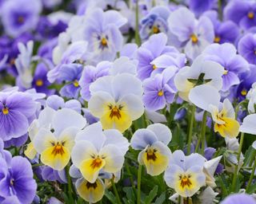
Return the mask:
[[54, 146], [48, 147], [45, 151], [42, 151], [41, 161], [54, 170], [60, 171], [69, 163], [70, 151], [62, 146], [62, 153], [58, 153], [54, 151]]

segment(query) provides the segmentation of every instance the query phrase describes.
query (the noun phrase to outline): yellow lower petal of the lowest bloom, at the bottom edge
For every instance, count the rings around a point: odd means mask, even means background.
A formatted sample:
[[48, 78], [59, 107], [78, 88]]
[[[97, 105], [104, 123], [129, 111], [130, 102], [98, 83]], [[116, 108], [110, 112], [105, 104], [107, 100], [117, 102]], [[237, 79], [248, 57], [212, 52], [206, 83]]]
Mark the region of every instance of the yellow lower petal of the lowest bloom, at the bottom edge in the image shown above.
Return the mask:
[[78, 194], [86, 200], [86, 202], [95, 203], [102, 199], [105, 186], [102, 180], [97, 179], [96, 182], [90, 183], [83, 179], [82, 182], [78, 184], [77, 190]]

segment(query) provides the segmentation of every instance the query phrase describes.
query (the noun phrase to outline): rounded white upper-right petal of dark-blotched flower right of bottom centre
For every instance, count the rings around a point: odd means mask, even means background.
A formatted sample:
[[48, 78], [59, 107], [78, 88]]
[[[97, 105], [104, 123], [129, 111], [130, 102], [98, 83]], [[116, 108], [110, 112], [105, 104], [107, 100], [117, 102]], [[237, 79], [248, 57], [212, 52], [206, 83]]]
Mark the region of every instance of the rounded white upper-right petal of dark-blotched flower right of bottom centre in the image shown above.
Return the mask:
[[154, 134], [158, 137], [158, 141], [168, 145], [172, 138], [170, 129], [164, 124], [150, 124], [147, 129], [153, 131]]

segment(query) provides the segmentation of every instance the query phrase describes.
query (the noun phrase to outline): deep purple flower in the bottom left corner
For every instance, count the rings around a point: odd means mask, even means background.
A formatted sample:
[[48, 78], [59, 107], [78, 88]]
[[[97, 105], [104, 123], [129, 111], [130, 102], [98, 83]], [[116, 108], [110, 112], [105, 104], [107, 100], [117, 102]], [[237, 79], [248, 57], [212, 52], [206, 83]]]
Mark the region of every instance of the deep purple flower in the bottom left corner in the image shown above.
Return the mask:
[[0, 159], [0, 161], [0, 198], [14, 196], [18, 198], [18, 203], [31, 203], [37, 190], [37, 184], [33, 179], [29, 161], [21, 156], [15, 156], [10, 163], [6, 163], [4, 159]]

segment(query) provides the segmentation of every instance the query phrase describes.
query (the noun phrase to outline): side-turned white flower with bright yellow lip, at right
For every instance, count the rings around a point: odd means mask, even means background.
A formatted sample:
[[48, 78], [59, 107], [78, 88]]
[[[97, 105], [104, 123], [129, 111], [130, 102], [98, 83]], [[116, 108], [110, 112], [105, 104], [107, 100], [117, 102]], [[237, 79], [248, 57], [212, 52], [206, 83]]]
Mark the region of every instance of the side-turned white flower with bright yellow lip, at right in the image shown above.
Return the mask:
[[202, 84], [190, 91], [190, 101], [198, 108], [210, 112], [214, 120], [214, 131], [222, 137], [234, 138], [238, 136], [240, 124], [235, 120], [234, 108], [230, 100], [220, 103], [218, 90], [210, 85]]

